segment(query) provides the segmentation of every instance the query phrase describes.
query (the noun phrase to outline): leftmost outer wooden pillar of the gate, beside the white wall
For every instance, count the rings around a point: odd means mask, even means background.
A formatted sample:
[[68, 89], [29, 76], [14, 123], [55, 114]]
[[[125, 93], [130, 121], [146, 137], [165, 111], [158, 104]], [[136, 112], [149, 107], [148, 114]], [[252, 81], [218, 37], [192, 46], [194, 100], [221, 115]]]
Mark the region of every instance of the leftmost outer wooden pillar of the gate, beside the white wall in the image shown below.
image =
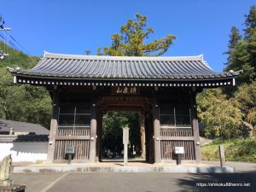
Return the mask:
[[59, 92], [53, 91], [52, 96], [52, 115], [49, 130], [49, 145], [47, 154], [47, 163], [52, 163], [55, 158], [55, 137], [58, 130], [58, 114], [59, 113]]

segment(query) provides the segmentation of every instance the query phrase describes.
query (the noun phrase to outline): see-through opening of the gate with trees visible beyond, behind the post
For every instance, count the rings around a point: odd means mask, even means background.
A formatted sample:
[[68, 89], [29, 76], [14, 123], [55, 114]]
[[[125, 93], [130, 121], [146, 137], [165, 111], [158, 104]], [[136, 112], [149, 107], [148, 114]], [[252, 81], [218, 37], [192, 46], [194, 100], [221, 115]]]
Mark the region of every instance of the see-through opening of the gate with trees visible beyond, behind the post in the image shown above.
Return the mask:
[[[144, 161], [145, 134], [144, 125], [140, 124], [140, 112], [108, 111], [102, 118], [102, 140], [100, 161], [124, 160], [123, 128], [128, 127], [128, 159]], [[142, 147], [143, 143], [143, 147]]]

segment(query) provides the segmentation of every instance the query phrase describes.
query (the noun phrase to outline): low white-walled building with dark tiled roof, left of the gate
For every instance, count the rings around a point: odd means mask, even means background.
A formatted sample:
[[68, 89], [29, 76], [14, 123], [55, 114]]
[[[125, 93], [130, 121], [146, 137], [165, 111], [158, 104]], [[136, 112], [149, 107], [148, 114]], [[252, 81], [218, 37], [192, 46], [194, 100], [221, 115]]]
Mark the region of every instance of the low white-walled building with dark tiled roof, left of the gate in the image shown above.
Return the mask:
[[14, 162], [47, 160], [48, 136], [41, 125], [0, 119], [0, 160], [8, 154]]

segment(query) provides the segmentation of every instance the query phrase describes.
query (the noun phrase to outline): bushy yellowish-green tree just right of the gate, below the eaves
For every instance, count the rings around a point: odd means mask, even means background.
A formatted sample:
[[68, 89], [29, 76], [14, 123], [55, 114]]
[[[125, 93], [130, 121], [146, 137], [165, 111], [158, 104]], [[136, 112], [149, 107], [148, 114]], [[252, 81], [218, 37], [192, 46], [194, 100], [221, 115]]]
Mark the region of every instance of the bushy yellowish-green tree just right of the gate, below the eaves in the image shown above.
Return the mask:
[[221, 89], [204, 90], [196, 97], [199, 119], [206, 127], [206, 136], [223, 139], [242, 134], [242, 113], [238, 102], [223, 94]]

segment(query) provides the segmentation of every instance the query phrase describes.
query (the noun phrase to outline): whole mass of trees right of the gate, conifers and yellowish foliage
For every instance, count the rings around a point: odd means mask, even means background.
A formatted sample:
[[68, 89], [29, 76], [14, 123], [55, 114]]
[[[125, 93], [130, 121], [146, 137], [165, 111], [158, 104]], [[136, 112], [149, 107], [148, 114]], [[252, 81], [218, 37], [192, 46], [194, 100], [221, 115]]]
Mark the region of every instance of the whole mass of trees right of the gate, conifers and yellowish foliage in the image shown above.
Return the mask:
[[205, 90], [197, 96], [206, 136], [252, 137], [256, 129], [256, 8], [245, 15], [242, 34], [233, 26], [224, 71], [241, 71], [235, 89]]

